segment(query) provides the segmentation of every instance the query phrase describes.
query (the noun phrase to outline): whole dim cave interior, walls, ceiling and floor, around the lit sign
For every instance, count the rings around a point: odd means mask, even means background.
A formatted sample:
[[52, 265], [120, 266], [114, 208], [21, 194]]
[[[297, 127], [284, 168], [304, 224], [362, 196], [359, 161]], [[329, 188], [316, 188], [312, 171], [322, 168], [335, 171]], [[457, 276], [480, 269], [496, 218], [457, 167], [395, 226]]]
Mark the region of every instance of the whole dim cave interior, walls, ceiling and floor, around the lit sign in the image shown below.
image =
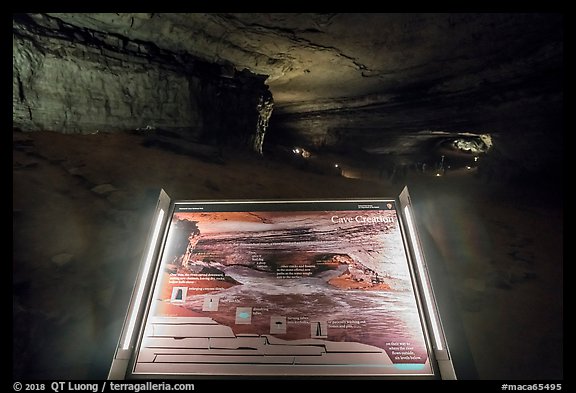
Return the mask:
[[463, 379], [562, 379], [563, 50], [558, 13], [14, 14], [13, 378], [106, 377], [161, 188], [408, 185]]

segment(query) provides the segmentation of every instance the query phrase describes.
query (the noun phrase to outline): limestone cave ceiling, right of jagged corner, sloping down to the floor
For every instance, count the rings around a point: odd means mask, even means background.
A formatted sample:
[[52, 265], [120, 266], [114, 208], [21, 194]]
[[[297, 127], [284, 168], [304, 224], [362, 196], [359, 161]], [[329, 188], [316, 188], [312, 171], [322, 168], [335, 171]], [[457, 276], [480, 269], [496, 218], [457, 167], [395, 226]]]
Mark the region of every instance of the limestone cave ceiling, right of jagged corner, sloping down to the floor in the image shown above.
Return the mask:
[[49, 15], [266, 75], [270, 139], [394, 151], [426, 130], [487, 132], [526, 162], [561, 150], [562, 14]]

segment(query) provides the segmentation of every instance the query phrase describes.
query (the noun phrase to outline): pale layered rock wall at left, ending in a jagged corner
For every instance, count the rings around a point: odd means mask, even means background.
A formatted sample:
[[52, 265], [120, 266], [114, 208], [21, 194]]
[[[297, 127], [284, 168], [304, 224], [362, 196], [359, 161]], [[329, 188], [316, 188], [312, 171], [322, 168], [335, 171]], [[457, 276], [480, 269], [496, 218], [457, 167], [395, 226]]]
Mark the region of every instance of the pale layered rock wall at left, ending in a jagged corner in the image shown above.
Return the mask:
[[264, 76], [43, 14], [13, 16], [12, 67], [23, 131], [162, 129], [261, 152], [273, 107]]

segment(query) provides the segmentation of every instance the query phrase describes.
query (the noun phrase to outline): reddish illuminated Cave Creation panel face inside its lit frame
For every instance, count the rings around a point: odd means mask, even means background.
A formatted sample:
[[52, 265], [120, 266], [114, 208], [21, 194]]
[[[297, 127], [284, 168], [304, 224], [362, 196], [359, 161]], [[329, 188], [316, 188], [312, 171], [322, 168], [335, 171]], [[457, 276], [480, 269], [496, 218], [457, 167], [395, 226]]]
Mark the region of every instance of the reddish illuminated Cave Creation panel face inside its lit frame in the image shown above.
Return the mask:
[[433, 374], [394, 202], [226, 210], [176, 206], [135, 374]]

